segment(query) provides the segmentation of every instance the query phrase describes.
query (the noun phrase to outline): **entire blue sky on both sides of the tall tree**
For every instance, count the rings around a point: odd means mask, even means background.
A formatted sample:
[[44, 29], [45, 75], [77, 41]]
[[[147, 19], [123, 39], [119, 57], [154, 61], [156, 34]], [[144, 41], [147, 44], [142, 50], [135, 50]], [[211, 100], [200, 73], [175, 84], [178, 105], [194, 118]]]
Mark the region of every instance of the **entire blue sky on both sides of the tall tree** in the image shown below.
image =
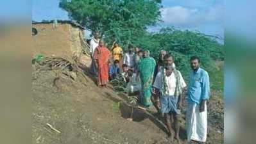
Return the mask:
[[[32, 0], [32, 20], [67, 20], [67, 12], [58, 7], [58, 0]], [[149, 31], [158, 31], [166, 26], [200, 31], [207, 35], [223, 37], [223, 0], [163, 0], [162, 20]]]

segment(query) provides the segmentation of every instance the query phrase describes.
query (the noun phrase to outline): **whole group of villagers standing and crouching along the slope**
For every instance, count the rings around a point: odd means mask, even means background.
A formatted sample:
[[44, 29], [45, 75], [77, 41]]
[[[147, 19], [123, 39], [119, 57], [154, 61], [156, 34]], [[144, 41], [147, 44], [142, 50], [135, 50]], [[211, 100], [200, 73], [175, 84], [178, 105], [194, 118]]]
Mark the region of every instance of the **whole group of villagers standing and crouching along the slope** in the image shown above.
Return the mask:
[[[166, 51], [160, 51], [157, 62], [148, 50], [128, 47], [128, 52], [114, 42], [110, 50], [99, 32], [90, 41], [92, 64], [90, 70], [98, 77], [98, 86], [106, 86], [109, 80], [122, 76], [129, 92], [139, 92], [139, 102], [145, 107], [155, 106], [164, 116], [171, 141], [180, 143], [179, 118], [182, 97], [187, 96], [186, 131], [187, 140], [204, 143], [207, 139], [207, 100], [210, 82], [207, 71], [200, 67], [200, 58], [192, 56], [191, 74], [186, 84], [182, 74], [175, 67], [174, 58]], [[122, 67], [122, 68], [121, 68]], [[174, 130], [171, 123], [174, 122]]]

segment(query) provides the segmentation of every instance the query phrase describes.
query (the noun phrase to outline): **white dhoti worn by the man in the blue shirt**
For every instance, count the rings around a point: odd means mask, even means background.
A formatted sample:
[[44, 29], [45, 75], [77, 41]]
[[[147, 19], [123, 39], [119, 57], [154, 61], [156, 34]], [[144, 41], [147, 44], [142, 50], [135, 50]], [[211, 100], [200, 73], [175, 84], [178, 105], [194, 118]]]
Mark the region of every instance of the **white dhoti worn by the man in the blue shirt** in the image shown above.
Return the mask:
[[186, 129], [187, 141], [205, 142], [207, 138], [207, 105], [205, 111], [199, 112], [199, 105], [194, 102], [187, 104]]

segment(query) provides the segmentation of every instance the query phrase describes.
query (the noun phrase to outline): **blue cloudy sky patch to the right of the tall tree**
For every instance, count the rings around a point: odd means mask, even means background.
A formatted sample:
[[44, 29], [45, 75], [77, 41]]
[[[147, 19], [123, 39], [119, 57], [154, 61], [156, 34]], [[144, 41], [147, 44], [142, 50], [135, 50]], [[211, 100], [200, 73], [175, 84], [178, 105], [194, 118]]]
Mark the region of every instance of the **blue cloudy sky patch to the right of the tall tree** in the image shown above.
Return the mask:
[[162, 20], [158, 28], [175, 26], [223, 37], [223, 0], [163, 0]]

